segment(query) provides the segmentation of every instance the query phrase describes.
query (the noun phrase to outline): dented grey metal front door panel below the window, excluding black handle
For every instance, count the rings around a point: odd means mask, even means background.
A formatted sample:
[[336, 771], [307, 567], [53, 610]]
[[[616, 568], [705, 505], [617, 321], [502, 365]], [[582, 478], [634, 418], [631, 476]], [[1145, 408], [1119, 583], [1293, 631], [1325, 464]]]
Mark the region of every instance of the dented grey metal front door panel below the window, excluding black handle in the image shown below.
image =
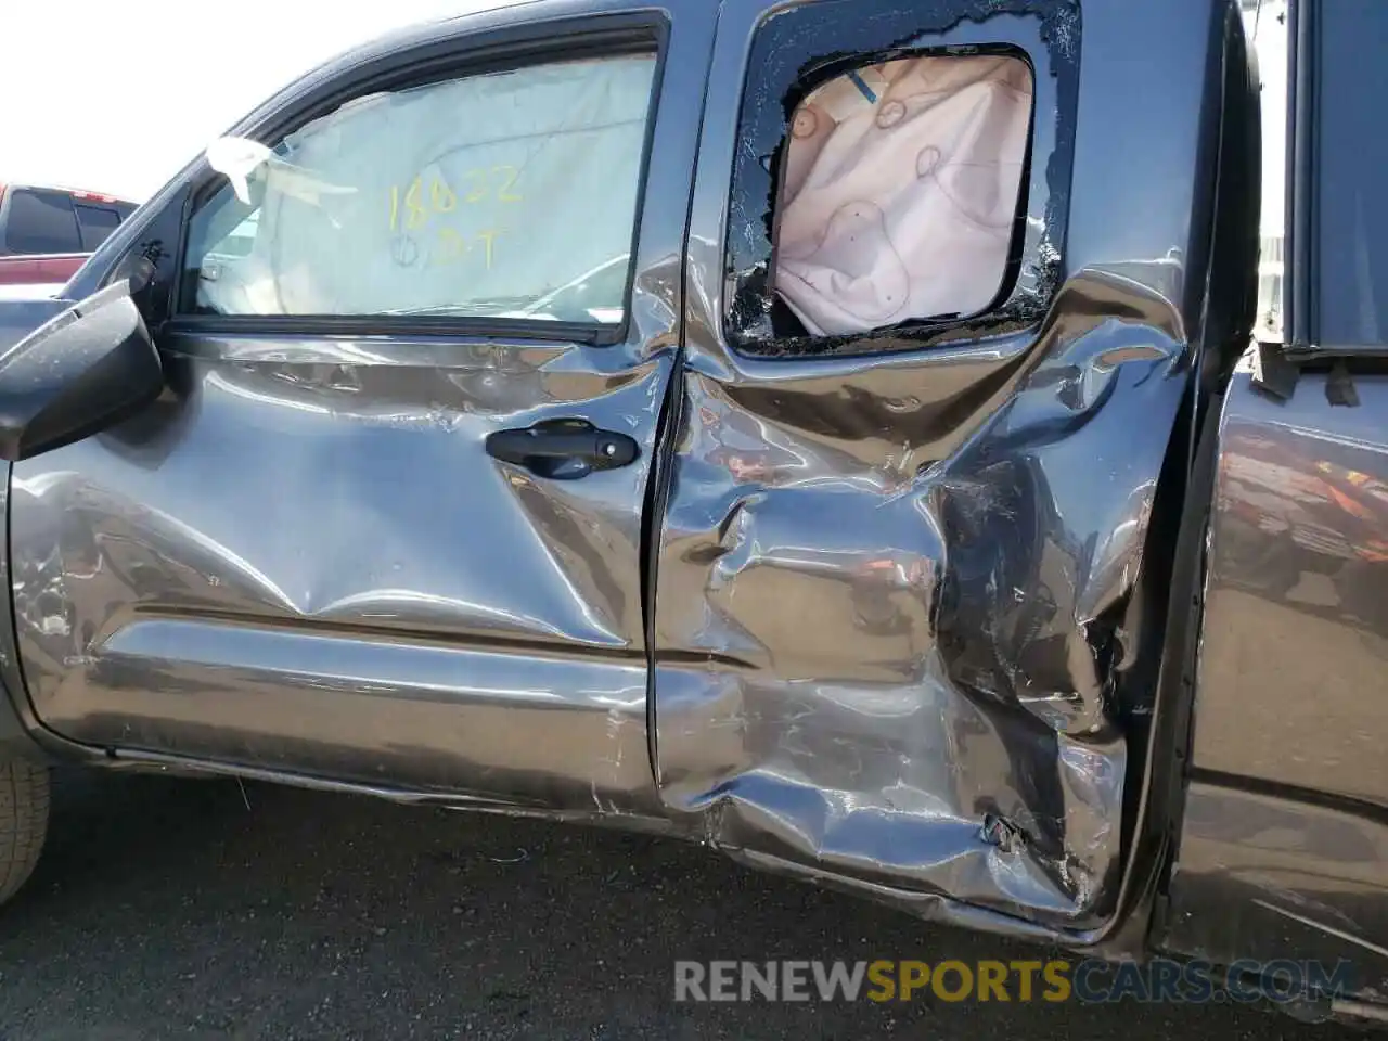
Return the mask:
[[[638, 507], [669, 350], [174, 347], [149, 415], [14, 471], [49, 726], [561, 806], [647, 797]], [[482, 448], [572, 415], [641, 458], [544, 482]], [[611, 784], [545, 751], [566, 743]]]

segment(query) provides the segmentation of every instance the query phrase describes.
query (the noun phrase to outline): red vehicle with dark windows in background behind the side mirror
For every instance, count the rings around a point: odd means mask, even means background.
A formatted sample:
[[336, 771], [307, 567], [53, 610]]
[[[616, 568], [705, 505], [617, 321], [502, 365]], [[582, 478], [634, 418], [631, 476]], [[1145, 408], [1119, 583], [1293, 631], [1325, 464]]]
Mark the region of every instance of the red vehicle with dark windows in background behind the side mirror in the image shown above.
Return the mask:
[[57, 293], [135, 207], [96, 192], [0, 183], [0, 298]]

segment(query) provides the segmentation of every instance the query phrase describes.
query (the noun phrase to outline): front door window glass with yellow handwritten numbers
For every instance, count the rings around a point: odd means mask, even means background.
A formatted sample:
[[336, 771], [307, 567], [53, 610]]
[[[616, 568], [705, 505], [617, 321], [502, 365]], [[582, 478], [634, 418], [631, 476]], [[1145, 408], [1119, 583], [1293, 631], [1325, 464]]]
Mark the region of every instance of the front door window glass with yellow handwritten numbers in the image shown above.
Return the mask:
[[193, 217], [187, 296], [221, 315], [620, 322], [654, 68], [471, 76], [246, 142], [244, 179], [219, 165]]

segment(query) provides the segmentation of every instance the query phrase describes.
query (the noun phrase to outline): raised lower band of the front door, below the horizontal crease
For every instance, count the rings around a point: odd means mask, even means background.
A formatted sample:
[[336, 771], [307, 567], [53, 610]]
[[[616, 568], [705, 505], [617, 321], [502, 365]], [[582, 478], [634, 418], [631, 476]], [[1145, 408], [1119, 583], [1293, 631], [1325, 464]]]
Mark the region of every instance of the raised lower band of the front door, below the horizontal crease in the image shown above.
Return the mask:
[[620, 812], [611, 793], [650, 786], [644, 662], [532, 654], [523, 666], [401, 637], [136, 620], [92, 663], [90, 683], [122, 712], [93, 709], [87, 726], [119, 727], [130, 748], [325, 777], [341, 773], [343, 748], [364, 748], [364, 781]]

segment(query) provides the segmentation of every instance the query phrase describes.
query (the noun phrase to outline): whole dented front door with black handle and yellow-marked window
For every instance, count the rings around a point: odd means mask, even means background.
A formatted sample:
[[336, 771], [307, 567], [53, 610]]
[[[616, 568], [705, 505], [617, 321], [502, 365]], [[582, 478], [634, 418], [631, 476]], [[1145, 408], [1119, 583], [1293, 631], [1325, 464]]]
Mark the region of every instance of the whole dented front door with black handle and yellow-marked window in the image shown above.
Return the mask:
[[[651, 808], [641, 520], [712, 22], [683, 1], [525, 15], [340, 62], [362, 85], [340, 97], [323, 76], [291, 90], [257, 117], [289, 128], [280, 208], [237, 229], [214, 212], [235, 207], [223, 187], [161, 239], [230, 230], [180, 265], [200, 265], [197, 307], [149, 316], [167, 393], [14, 468], [18, 643], [51, 730], [551, 812]], [[416, 146], [428, 162], [397, 161]], [[643, 169], [659, 186], [644, 203]], [[584, 260], [594, 233], [562, 222], [623, 193], [626, 223], [597, 229], [611, 255]], [[182, 198], [142, 235], [167, 214], [176, 229]], [[293, 230], [262, 250], [273, 222]], [[305, 264], [273, 266], [314, 235]], [[411, 280], [422, 255], [437, 265]], [[508, 279], [534, 298], [501, 298]], [[450, 307], [483, 283], [497, 303]], [[335, 318], [300, 316], [310, 290], [337, 290]]]

